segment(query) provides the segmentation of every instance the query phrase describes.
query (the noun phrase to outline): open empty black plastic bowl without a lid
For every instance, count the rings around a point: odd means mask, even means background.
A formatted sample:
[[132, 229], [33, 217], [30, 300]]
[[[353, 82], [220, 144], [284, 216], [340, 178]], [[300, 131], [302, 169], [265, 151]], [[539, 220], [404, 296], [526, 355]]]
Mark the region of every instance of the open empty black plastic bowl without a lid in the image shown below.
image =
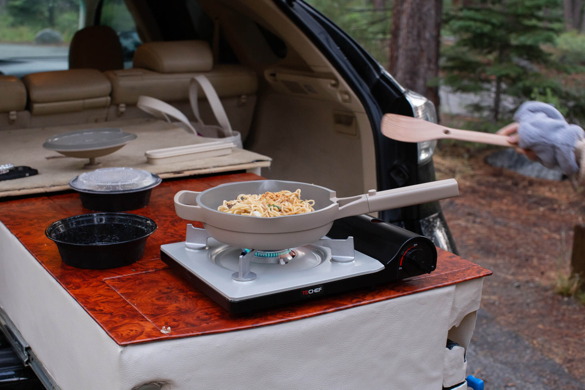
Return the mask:
[[61, 260], [77, 268], [102, 270], [139, 260], [156, 222], [142, 215], [93, 213], [51, 223], [44, 231]]

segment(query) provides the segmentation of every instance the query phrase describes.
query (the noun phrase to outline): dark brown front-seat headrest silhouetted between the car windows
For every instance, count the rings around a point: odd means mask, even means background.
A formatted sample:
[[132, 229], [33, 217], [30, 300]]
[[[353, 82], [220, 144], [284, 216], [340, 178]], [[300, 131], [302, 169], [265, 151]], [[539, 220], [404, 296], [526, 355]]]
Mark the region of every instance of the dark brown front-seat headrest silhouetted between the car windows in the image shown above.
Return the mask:
[[99, 71], [124, 67], [118, 34], [108, 26], [88, 26], [73, 36], [69, 46], [69, 68]]

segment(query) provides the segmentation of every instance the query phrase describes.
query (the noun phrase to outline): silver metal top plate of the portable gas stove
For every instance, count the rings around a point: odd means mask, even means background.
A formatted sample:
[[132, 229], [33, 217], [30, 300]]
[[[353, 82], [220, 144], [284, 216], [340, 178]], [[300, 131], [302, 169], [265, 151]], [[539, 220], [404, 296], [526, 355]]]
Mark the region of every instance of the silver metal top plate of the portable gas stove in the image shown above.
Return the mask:
[[[297, 256], [287, 264], [250, 261], [250, 269], [257, 277], [242, 282], [232, 279], [233, 272], [238, 271], [240, 248], [210, 237], [204, 249], [188, 249], [185, 242], [180, 242], [164, 244], [160, 250], [225, 299], [234, 302], [371, 274], [384, 268], [376, 259], [358, 251], [353, 261], [332, 261], [328, 247], [309, 244], [294, 249]], [[233, 256], [233, 260], [228, 260], [229, 256]]]

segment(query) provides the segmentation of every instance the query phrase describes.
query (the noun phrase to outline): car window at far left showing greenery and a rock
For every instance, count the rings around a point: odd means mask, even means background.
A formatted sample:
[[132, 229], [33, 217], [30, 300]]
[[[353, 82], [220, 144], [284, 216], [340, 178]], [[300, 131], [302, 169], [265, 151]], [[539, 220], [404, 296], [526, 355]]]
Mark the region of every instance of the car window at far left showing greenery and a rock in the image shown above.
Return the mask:
[[80, 0], [0, 1], [0, 73], [67, 69], [71, 38], [84, 20]]

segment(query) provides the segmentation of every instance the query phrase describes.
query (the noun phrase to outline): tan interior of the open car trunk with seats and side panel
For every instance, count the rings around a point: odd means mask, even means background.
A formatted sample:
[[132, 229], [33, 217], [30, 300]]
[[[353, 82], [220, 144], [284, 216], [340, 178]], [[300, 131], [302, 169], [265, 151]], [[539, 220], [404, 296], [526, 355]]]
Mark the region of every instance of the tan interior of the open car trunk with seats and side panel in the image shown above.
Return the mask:
[[[149, 8], [147, 3], [128, 2], [137, 28], [149, 32], [144, 33], [145, 38], [164, 39], [164, 28], [168, 26], [162, 23], [166, 15], [154, 18], [157, 8], [152, 4]], [[100, 158], [103, 167], [123, 164], [149, 168], [144, 165], [146, 158], [142, 154], [146, 150], [142, 149], [156, 149], [157, 137], [159, 147], [181, 146], [190, 143], [191, 138], [187, 132], [168, 130], [178, 126], [164, 125], [140, 111], [137, 98], [139, 95], [159, 98], [194, 120], [188, 102], [188, 83], [196, 74], [206, 75], [214, 85], [233, 129], [242, 134], [245, 149], [261, 156], [249, 154], [247, 160], [243, 158], [238, 163], [210, 161], [207, 165], [193, 160], [192, 164], [159, 169], [157, 173], [163, 177], [173, 172], [205, 173], [204, 168], [218, 166], [250, 169], [250, 164], [260, 160], [265, 163], [255, 167], [266, 167], [271, 157], [270, 169], [262, 171], [268, 178], [313, 182], [338, 189], [339, 196], [362, 194], [377, 187], [374, 139], [362, 104], [323, 54], [273, 2], [254, 2], [249, 6], [246, 2], [200, 1], [199, 5], [185, 7], [203, 12], [205, 18], [201, 19], [211, 23], [212, 35], [211, 20], [220, 26], [218, 43], [214, 45], [212, 37], [210, 49], [204, 54], [190, 57], [183, 47], [185, 41], [166, 42], [163, 49], [155, 48], [164, 57], [162, 64], [139, 48], [134, 67], [129, 69], [102, 73], [54, 71], [23, 77], [23, 88], [13, 88], [15, 92], [11, 93], [21, 100], [24, 94], [26, 105], [9, 107], [0, 122], [0, 131], [8, 139], [1, 146], [5, 149], [2, 154], [11, 160], [7, 163], [37, 168], [39, 178], [29, 181], [40, 184], [27, 185], [25, 180], [0, 182], [0, 193], [34, 192], [31, 187], [39, 192], [66, 188], [66, 176], [78, 174], [81, 161], [40, 149], [42, 141], [56, 133], [88, 127], [121, 127], [139, 134], [136, 146], [129, 144]], [[200, 64], [181, 68], [176, 64], [197, 63], [205, 56], [213, 57], [209, 68], [201, 68]], [[20, 82], [5, 79], [4, 84], [14, 86]], [[202, 119], [215, 123], [205, 96], [199, 94], [199, 98]], [[138, 146], [142, 132], [149, 133], [150, 141]], [[37, 158], [30, 154], [35, 148], [39, 151]], [[240, 163], [244, 165], [238, 167]], [[54, 171], [60, 171], [63, 178], [45, 175], [40, 180], [46, 172]], [[23, 188], [28, 189], [18, 192]]]

